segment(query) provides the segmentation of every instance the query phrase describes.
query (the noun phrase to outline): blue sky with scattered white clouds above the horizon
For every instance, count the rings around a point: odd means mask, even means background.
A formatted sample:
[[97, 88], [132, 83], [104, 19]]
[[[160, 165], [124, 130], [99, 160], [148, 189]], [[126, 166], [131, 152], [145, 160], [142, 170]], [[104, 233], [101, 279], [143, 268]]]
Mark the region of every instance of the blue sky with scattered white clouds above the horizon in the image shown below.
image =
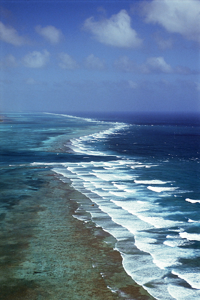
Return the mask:
[[1, 111], [200, 111], [200, 0], [0, 9]]

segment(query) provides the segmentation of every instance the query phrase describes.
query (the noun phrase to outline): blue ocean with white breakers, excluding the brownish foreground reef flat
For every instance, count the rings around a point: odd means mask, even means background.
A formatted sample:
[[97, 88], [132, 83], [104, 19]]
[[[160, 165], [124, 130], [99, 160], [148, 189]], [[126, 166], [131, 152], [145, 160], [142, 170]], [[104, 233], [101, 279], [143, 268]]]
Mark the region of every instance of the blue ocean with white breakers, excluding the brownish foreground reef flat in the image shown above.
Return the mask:
[[133, 280], [156, 299], [200, 299], [197, 115], [1, 115], [5, 176], [45, 165], [70, 178], [94, 204], [79, 200], [74, 217], [117, 239]]

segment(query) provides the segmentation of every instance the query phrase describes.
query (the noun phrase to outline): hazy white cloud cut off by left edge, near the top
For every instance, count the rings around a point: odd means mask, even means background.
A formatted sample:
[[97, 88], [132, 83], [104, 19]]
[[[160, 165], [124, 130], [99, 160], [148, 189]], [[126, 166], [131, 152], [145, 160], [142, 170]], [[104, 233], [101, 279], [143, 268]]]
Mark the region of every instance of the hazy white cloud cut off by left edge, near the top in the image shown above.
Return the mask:
[[25, 44], [24, 38], [20, 37], [14, 28], [7, 27], [2, 22], [0, 22], [0, 39], [15, 46]]

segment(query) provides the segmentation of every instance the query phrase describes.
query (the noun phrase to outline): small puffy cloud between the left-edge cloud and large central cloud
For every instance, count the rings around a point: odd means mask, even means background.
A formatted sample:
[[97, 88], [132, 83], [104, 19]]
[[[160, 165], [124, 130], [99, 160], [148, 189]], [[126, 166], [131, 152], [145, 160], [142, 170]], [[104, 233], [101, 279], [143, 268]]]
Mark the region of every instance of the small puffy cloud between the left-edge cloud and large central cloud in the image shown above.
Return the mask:
[[61, 40], [61, 30], [56, 29], [54, 26], [46, 26], [42, 28], [40, 25], [38, 25], [35, 27], [35, 30], [51, 44], [57, 44]]

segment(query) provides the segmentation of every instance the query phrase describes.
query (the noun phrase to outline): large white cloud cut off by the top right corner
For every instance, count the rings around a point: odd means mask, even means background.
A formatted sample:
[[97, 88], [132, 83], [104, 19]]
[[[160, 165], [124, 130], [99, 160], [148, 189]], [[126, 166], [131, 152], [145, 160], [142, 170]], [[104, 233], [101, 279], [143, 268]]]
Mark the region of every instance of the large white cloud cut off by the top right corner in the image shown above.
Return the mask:
[[199, 0], [153, 0], [144, 6], [146, 22], [159, 23], [169, 32], [200, 41]]

